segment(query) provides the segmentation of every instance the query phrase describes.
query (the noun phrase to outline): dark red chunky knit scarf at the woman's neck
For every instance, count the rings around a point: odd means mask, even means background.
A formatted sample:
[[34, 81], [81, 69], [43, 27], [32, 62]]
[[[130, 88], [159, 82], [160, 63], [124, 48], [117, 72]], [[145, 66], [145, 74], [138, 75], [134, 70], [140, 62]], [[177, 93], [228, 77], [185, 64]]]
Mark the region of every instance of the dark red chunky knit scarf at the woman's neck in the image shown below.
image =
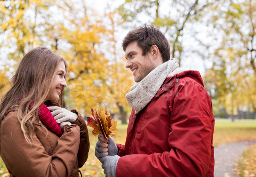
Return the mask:
[[[52, 104], [51, 106], [57, 106], [55, 104]], [[33, 102], [29, 104], [29, 108], [33, 107]], [[58, 125], [58, 123], [55, 121], [54, 117], [52, 116], [52, 113], [47, 108], [45, 104], [41, 104], [38, 108], [38, 116], [40, 121], [47, 126], [48, 129], [50, 129], [53, 133], [55, 133], [58, 137], [61, 137], [61, 127]]]

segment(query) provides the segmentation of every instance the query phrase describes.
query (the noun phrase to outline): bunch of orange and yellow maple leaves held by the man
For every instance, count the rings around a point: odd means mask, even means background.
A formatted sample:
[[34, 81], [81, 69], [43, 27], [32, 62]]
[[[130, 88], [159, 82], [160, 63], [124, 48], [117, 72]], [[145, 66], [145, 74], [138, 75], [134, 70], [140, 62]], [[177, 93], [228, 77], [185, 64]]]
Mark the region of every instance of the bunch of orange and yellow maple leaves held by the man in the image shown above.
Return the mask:
[[97, 106], [97, 110], [91, 108], [91, 112], [93, 118], [87, 117], [87, 126], [93, 127], [93, 135], [96, 136], [101, 133], [106, 140], [108, 140], [109, 136], [116, 138], [113, 131], [118, 130], [116, 129], [117, 120], [111, 119], [110, 112], [106, 109], [106, 106], [104, 105], [102, 108]]

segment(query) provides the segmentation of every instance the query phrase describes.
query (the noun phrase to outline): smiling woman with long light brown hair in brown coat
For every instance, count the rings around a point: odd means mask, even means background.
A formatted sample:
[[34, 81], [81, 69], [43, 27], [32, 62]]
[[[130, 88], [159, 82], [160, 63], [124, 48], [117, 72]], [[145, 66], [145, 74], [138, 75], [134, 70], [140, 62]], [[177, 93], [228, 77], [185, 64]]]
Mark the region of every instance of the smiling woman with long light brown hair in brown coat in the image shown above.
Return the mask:
[[89, 137], [79, 112], [62, 108], [66, 75], [64, 59], [45, 47], [17, 67], [0, 104], [0, 154], [11, 177], [79, 176]]

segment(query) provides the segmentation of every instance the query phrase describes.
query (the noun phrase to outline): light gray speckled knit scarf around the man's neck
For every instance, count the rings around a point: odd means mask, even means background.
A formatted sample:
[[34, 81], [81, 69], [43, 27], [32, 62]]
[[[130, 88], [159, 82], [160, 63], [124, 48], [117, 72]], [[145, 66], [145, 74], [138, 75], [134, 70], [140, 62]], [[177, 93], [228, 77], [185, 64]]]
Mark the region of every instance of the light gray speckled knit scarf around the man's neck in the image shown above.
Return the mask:
[[176, 59], [172, 58], [156, 67], [140, 82], [135, 82], [131, 86], [130, 92], [125, 95], [125, 98], [130, 106], [134, 108], [135, 114], [140, 112], [151, 101], [167, 77], [183, 71], [178, 66]]

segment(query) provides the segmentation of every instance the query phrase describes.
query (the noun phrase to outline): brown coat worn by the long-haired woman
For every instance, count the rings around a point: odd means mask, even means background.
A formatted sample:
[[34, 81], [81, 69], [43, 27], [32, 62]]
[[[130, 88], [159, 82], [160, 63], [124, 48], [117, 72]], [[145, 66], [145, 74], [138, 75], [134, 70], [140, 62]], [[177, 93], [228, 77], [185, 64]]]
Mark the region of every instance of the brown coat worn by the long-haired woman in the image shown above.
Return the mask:
[[76, 110], [77, 120], [62, 127], [58, 137], [34, 122], [35, 135], [28, 143], [17, 112], [11, 111], [0, 125], [0, 154], [10, 177], [78, 177], [88, 157], [89, 137], [84, 118]]

